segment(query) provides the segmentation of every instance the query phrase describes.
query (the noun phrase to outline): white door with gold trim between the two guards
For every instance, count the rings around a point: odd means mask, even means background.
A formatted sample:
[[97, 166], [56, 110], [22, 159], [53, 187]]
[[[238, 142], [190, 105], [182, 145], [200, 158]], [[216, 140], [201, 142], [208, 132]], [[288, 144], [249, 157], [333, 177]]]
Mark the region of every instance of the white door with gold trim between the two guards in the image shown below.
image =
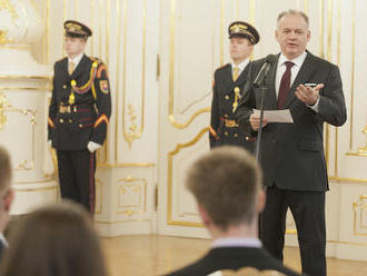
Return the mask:
[[221, 3], [162, 0], [160, 18], [159, 233], [207, 236], [185, 188], [209, 150], [212, 73], [221, 57]]

